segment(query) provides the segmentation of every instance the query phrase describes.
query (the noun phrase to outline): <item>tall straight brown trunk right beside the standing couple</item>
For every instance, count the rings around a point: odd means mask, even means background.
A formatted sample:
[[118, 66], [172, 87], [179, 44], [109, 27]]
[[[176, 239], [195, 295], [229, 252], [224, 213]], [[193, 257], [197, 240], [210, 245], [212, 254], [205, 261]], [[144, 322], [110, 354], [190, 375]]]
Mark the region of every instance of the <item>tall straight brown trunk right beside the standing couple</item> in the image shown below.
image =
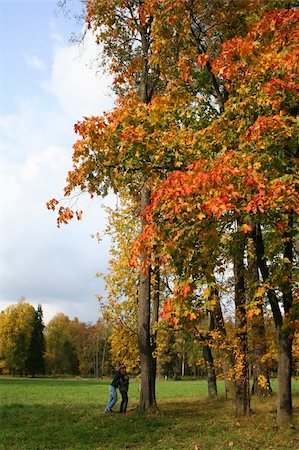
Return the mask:
[[[141, 190], [141, 211], [150, 203], [150, 192], [144, 184]], [[145, 222], [142, 219], [142, 226]], [[141, 267], [143, 267], [146, 254], [141, 254]], [[155, 394], [155, 363], [152, 354], [151, 336], [150, 336], [150, 297], [151, 297], [151, 280], [150, 267], [141, 269], [139, 284], [139, 302], [138, 302], [138, 348], [140, 355], [140, 371], [141, 371], [141, 389], [140, 389], [140, 411], [147, 411], [149, 408], [156, 406]]]

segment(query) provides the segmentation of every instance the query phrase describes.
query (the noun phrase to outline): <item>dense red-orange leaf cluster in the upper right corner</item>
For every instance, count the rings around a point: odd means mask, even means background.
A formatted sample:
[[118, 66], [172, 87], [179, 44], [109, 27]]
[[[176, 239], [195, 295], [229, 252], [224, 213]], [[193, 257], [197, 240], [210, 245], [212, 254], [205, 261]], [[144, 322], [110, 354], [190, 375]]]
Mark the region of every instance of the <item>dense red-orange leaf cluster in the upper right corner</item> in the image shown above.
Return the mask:
[[248, 86], [251, 93], [261, 89], [278, 109], [284, 100], [281, 90], [294, 95], [298, 90], [298, 19], [297, 10], [268, 12], [245, 38], [223, 44], [214, 73], [233, 83], [239, 93]]

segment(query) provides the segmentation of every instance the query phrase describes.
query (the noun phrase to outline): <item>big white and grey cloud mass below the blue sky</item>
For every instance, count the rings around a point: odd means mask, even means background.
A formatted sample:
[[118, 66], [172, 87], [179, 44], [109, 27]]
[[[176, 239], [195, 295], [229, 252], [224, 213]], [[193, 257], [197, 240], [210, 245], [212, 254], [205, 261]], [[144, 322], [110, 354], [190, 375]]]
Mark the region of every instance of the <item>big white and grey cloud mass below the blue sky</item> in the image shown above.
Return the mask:
[[90, 68], [96, 48], [87, 44], [81, 53], [76, 46], [56, 44], [51, 77], [43, 84], [48, 95], [19, 95], [18, 109], [0, 117], [0, 310], [25, 296], [44, 306], [47, 321], [54, 312], [95, 321], [95, 296], [104, 288], [95, 274], [106, 270], [109, 239], [98, 245], [91, 238], [105, 227], [101, 200], [80, 198], [83, 221], [61, 229], [45, 206], [62, 195], [74, 122], [113, 107], [108, 78]]

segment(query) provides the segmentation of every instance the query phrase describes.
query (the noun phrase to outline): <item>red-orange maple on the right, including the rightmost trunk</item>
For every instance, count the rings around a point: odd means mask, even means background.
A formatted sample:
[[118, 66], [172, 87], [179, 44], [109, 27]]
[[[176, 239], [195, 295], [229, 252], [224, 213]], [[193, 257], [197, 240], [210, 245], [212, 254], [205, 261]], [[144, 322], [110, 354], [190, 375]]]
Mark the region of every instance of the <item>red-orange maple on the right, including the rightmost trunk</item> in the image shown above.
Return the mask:
[[[287, 373], [281, 378], [279, 375], [279, 424], [287, 422], [291, 416], [291, 372], [287, 361], [291, 356], [290, 333], [294, 325], [290, 319], [292, 316], [294, 319], [297, 304], [294, 290], [296, 265], [292, 258], [295, 217], [298, 215], [294, 117], [298, 100], [297, 27], [297, 11], [271, 11], [247, 36], [234, 38], [223, 45], [222, 54], [212, 67], [226, 80], [230, 97], [224, 114], [201, 132], [205, 159], [190, 165], [186, 172], [171, 174], [162, 188], [153, 194], [147, 214], [149, 225], [138, 243], [152, 258], [157, 242], [169, 254], [174, 242], [176, 248], [188, 239], [194, 242], [191, 237], [194, 234], [211, 252], [223, 236], [219, 227], [222, 231], [230, 230], [232, 242], [237, 244], [232, 256], [238, 258], [240, 265], [238, 283], [243, 300], [236, 305], [236, 313], [241, 312], [239, 329], [244, 334], [244, 252], [252, 223], [256, 223], [259, 230], [262, 224], [260, 238], [270, 236], [272, 241], [267, 254], [272, 260], [272, 274], [262, 262], [265, 255], [258, 253], [261, 248], [258, 248], [256, 236], [254, 241], [278, 332], [279, 374], [288, 367]], [[238, 227], [234, 229], [236, 222]], [[208, 228], [211, 224], [212, 229]], [[209, 234], [208, 230], [214, 237], [212, 246], [209, 239], [201, 239], [202, 233]], [[154, 236], [159, 236], [158, 241]], [[190, 251], [194, 253], [193, 249]], [[284, 258], [278, 263], [280, 254], [284, 254]], [[284, 314], [271, 284], [281, 292]], [[245, 341], [243, 345], [246, 345]], [[285, 353], [283, 345], [287, 347]], [[244, 348], [241, 357], [246, 354]], [[244, 368], [246, 364], [243, 361], [240, 367]]]

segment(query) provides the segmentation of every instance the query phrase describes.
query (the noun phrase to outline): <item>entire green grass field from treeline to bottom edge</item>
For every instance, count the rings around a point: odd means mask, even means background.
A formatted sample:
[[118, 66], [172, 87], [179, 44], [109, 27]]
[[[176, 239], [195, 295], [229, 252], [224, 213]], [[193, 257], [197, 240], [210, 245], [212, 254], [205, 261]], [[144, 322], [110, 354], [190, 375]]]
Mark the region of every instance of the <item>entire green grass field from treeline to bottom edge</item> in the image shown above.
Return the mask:
[[[236, 419], [233, 402], [207, 398], [205, 381], [158, 381], [159, 411], [136, 412], [131, 380], [128, 415], [105, 414], [109, 381], [0, 378], [1, 450], [299, 450], [299, 380], [295, 426], [277, 430], [275, 394], [252, 399], [253, 413]], [[272, 384], [275, 390], [275, 383]], [[117, 410], [119, 402], [114, 409]]]

